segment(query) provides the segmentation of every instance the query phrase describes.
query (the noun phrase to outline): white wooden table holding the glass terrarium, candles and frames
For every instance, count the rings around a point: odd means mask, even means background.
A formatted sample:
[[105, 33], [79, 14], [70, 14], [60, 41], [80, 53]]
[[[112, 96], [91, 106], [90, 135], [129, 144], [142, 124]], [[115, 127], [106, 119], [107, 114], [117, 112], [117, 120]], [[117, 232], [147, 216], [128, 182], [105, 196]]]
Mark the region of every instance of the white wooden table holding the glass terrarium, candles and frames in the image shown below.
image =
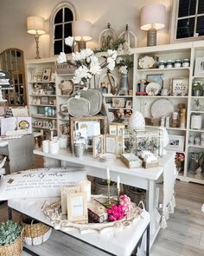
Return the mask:
[[86, 174], [101, 179], [106, 179], [106, 168], [109, 167], [112, 181], [117, 181], [119, 175], [121, 183], [147, 190], [146, 208], [150, 213], [150, 246], [153, 244], [160, 229], [159, 222], [161, 219], [156, 205], [156, 181], [163, 174], [165, 168], [174, 175], [174, 171], [171, 169], [175, 155], [173, 152], [169, 152], [161, 159], [161, 166], [148, 169], [143, 167], [129, 169], [120, 160], [103, 163], [94, 159], [91, 154], [86, 154], [83, 158], [77, 158], [66, 149], [60, 150], [58, 154], [44, 153], [41, 149], [35, 149], [34, 154], [44, 156], [47, 164], [49, 160], [51, 162], [58, 160], [66, 161], [71, 165], [86, 167]]

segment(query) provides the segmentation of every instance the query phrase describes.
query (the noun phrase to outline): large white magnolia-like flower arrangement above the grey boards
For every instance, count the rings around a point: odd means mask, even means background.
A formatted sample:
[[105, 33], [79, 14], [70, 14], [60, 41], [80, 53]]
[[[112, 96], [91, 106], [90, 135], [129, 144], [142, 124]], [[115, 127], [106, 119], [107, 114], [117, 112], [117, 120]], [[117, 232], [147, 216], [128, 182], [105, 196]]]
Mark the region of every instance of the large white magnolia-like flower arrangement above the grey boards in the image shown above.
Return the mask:
[[[65, 43], [73, 50], [75, 42], [72, 36], [68, 36], [65, 39]], [[81, 49], [80, 52], [72, 53], [72, 58], [72, 60], [67, 60], [66, 54], [61, 52], [57, 62], [67, 62], [76, 68], [73, 75], [73, 83], [85, 83], [90, 81], [93, 75], [100, 74], [105, 68], [113, 70], [115, 68], [117, 52], [116, 50], [108, 49], [107, 56], [103, 56], [104, 61], [101, 63], [92, 49]]]

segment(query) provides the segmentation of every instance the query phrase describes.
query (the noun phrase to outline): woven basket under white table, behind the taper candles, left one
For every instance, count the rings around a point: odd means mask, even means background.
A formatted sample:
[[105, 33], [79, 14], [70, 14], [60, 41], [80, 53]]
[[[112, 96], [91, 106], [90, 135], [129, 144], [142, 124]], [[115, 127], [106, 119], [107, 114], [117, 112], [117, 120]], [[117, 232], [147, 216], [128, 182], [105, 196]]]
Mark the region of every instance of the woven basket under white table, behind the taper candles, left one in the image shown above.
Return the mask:
[[[107, 182], [103, 179], [99, 179], [99, 178], [95, 178], [95, 192], [96, 194], [104, 194], [104, 195], [108, 195], [108, 186], [107, 186]], [[111, 182], [111, 186], [110, 186], [110, 195], [117, 195], [118, 194], [118, 190], [117, 190], [117, 183], [116, 182]]]

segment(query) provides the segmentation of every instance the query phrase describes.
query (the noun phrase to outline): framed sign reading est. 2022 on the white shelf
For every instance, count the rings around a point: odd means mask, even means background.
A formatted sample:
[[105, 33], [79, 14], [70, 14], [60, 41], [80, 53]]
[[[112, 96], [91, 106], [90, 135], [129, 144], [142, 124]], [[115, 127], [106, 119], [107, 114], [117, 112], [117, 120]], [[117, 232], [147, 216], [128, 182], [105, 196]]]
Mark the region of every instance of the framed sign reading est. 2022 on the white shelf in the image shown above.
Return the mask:
[[177, 96], [177, 95], [186, 96], [186, 95], [188, 95], [188, 78], [172, 78], [171, 93], [174, 96]]

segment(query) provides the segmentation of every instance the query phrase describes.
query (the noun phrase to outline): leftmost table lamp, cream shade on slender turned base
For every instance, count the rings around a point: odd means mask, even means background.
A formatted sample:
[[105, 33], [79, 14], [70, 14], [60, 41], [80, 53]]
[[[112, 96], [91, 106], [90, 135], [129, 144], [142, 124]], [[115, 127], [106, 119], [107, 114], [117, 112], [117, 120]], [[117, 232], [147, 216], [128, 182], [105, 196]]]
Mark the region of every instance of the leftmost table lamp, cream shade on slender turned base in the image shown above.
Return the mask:
[[36, 56], [35, 59], [40, 59], [39, 54], [39, 36], [45, 34], [44, 18], [41, 16], [27, 17], [27, 30], [29, 34], [35, 35]]

